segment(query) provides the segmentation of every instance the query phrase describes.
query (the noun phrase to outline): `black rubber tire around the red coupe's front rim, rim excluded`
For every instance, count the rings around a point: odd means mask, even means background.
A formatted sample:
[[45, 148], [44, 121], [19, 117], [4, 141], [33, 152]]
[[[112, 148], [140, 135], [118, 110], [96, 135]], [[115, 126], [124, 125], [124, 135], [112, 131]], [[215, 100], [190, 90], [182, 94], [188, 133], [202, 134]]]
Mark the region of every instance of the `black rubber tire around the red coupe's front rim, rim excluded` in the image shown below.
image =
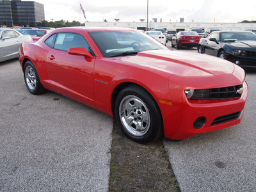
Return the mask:
[[[150, 113], [150, 127], [148, 129], [148, 132], [143, 136], [134, 136], [133, 134], [131, 134], [129, 131], [127, 131], [127, 129], [125, 129], [122, 120], [120, 119], [120, 102], [122, 101], [122, 99], [124, 99], [124, 97], [128, 95], [134, 95], [136, 97], [139, 97], [145, 103]], [[152, 98], [151, 95], [149, 95], [145, 90], [138, 86], [129, 86], [127, 88], [124, 88], [124, 90], [122, 90], [120, 93], [118, 93], [115, 101], [115, 118], [117, 124], [119, 125], [122, 132], [124, 132], [125, 136], [133, 141], [136, 141], [137, 143], [148, 143], [157, 139], [159, 131], [163, 129], [162, 117], [156, 101]]]

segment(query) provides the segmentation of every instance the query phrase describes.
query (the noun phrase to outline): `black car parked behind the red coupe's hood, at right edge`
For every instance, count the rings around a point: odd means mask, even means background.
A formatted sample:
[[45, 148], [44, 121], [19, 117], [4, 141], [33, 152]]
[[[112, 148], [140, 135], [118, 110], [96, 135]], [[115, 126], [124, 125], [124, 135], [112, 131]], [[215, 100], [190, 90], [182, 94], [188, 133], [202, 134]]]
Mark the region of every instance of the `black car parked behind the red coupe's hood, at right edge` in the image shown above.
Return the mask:
[[200, 39], [197, 50], [241, 67], [256, 68], [256, 35], [249, 31], [214, 31]]

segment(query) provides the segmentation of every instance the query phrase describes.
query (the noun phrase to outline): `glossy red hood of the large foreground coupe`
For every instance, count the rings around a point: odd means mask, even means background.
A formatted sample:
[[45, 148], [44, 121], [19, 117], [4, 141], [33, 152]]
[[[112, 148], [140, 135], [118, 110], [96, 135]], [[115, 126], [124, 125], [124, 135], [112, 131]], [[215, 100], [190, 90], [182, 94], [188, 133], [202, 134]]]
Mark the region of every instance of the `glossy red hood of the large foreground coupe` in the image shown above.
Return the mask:
[[135, 63], [148, 70], [163, 72], [166, 76], [177, 75], [186, 77], [218, 76], [232, 74], [234, 64], [205, 54], [156, 50], [138, 52], [137, 56], [125, 57], [122, 60]]

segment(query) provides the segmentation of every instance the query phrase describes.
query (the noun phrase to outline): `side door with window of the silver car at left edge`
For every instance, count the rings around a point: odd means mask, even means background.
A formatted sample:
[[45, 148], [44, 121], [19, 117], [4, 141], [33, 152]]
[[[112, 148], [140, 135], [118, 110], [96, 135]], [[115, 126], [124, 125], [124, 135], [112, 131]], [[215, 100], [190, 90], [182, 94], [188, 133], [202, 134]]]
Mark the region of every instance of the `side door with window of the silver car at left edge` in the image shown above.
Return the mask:
[[4, 58], [18, 57], [20, 47], [19, 33], [13, 30], [4, 30], [1, 35], [1, 44]]

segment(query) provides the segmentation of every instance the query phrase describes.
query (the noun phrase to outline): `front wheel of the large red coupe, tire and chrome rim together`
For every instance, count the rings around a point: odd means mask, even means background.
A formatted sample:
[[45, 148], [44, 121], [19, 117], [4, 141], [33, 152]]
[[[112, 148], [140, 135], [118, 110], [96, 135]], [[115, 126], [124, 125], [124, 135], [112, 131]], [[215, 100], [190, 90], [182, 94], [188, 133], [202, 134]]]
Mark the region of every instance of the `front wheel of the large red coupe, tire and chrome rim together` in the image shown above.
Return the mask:
[[163, 120], [157, 103], [140, 86], [128, 86], [118, 93], [115, 118], [125, 136], [137, 143], [149, 143], [163, 132]]

